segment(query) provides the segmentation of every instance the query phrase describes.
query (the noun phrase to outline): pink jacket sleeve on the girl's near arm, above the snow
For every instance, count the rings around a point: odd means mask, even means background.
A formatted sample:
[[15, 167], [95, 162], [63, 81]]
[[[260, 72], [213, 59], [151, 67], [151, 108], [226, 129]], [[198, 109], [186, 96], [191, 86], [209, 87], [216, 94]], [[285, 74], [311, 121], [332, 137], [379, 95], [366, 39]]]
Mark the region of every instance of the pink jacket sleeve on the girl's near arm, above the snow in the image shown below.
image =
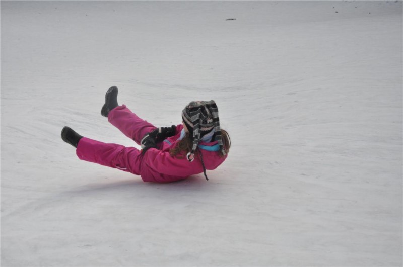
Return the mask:
[[187, 161], [177, 158], [156, 148], [150, 148], [144, 154], [144, 162], [155, 171], [174, 176], [187, 177], [203, 172], [203, 166], [198, 161]]

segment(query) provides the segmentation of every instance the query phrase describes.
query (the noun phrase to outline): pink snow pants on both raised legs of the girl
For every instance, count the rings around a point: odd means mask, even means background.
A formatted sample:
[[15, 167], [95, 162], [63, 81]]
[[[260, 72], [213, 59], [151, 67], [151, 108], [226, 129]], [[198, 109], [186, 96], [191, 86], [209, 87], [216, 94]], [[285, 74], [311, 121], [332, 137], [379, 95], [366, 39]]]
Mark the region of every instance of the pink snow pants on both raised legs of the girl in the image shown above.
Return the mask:
[[[151, 123], [137, 117], [125, 105], [111, 110], [108, 121], [139, 145], [144, 135], [156, 128]], [[77, 145], [76, 153], [82, 160], [140, 175], [143, 155], [135, 147], [107, 144], [83, 137]]]

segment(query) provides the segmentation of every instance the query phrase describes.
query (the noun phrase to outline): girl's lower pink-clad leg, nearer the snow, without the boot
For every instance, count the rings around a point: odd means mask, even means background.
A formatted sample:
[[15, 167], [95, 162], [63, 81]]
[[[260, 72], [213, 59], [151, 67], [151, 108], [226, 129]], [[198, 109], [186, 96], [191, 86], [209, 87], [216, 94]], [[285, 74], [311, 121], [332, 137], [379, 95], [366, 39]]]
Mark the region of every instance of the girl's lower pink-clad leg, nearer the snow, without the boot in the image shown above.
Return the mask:
[[140, 175], [140, 165], [143, 156], [139, 149], [135, 147], [106, 144], [83, 137], [77, 145], [76, 153], [82, 160]]

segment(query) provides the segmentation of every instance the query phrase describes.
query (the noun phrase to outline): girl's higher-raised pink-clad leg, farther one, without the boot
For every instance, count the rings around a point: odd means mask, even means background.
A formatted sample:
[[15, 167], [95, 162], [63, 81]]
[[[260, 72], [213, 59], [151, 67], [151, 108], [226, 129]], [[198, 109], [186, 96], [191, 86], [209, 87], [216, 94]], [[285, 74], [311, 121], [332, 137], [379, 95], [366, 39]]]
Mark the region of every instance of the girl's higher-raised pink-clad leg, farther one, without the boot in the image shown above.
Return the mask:
[[108, 121], [125, 136], [135, 140], [138, 145], [140, 145], [140, 141], [146, 133], [156, 128], [151, 123], [137, 117], [136, 114], [126, 108], [126, 105], [118, 106], [111, 110], [108, 115]]

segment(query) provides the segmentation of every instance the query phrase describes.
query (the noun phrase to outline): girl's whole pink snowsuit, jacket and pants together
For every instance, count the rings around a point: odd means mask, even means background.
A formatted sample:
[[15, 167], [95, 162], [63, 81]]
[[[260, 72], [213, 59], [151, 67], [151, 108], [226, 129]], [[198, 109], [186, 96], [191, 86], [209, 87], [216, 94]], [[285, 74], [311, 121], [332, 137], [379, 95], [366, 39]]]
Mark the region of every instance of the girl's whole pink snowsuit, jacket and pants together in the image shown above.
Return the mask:
[[[144, 135], [156, 128], [151, 123], [137, 117], [125, 105], [111, 110], [108, 121], [139, 145]], [[196, 157], [192, 162], [189, 162], [186, 157], [177, 158], [169, 154], [170, 148], [179, 142], [177, 139], [180, 137], [182, 128], [183, 125], [178, 125], [174, 136], [158, 143], [158, 149], [148, 149], [144, 155], [135, 147], [106, 144], [86, 137], [80, 139], [76, 153], [82, 160], [141, 175], [144, 182], [174, 182], [203, 172], [203, 165], [201, 165], [198, 153], [195, 154]], [[199, 143], [202, 146], [216, 144], [217, 141]], [[209, 170], [217, 168], [227, 158], [227, 155], [220, 157], [220, 152], [216, 151], [199, 149], [199, 152], [203, 154], [205, 167]]]

